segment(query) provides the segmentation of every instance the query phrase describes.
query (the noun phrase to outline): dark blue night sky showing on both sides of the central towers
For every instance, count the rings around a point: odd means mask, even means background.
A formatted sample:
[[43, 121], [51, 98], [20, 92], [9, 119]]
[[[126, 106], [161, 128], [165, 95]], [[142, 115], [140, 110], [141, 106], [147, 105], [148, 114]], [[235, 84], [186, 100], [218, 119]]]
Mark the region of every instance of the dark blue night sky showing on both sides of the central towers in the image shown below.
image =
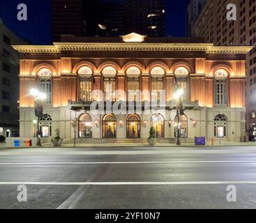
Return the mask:
[[[185, 36], [185, 15], [188, 0], [166, 1], [166, 35]], [[51, 0], [0, 0], [0, 17], [9, 29], [35, 45], [51, 43]], [[17, 20], [17, 5], [28, 7], [28, 20]]]

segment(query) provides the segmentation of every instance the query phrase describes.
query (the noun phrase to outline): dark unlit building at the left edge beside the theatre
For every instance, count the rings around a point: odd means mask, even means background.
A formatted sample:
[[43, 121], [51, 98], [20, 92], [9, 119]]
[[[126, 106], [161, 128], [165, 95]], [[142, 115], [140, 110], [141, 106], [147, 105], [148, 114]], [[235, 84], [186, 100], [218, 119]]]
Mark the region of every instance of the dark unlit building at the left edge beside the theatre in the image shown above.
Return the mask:
[[11, 45], [22, 44], [0, 19], [0, 135], [19, 134], [19, 56]]

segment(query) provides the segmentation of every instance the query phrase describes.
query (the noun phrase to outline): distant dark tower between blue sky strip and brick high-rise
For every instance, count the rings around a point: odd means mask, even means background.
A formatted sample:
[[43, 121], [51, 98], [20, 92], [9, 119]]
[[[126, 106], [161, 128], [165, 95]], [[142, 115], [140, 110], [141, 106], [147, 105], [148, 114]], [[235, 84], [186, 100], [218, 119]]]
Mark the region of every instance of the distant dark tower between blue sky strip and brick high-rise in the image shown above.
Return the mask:
[[186, 10], [186, 36], [192, 36], [193, 23], [204, 8], [206, 0], [190, 0]]

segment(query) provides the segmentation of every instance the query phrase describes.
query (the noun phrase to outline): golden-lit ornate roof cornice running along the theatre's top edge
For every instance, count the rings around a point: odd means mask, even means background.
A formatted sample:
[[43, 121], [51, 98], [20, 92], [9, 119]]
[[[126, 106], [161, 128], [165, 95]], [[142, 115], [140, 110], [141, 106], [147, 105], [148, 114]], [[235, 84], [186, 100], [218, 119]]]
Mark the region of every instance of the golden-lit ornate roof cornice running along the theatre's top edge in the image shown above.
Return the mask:
[[217, 47], [209, 43], [54, 43], [52, 46], [13, 45], [20, 53], [60, 53], [61, 51], [180, 51], [206, 54], [246, 54], [253, 47]]

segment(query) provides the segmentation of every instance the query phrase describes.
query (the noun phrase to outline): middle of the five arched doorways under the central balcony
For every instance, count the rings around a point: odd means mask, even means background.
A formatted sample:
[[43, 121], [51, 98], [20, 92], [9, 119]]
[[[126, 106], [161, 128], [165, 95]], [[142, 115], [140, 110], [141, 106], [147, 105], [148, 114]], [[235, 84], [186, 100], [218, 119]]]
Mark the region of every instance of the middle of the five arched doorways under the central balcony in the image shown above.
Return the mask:
[[137, 114], [128, 116], [126, 120], [126, 137], [128, 139], [140, 139], [140, 117]]

